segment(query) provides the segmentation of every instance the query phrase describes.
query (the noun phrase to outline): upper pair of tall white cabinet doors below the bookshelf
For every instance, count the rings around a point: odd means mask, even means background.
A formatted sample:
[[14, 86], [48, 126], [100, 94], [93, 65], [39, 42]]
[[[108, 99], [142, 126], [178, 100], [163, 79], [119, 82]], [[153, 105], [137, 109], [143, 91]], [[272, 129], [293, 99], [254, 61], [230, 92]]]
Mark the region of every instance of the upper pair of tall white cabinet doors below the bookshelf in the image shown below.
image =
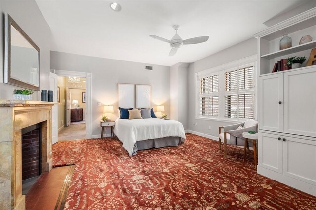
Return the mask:
[[259, 130], [316, 137], [316, 66], [259, 77]]

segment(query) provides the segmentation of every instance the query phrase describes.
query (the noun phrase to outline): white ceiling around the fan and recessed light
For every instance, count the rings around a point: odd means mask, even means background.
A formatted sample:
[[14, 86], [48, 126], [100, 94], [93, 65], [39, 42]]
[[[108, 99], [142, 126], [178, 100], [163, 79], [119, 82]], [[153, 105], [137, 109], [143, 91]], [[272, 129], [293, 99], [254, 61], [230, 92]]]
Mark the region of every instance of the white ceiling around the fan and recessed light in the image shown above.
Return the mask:
[[[252, 37], [263, 23], [308, 0], [36, 0], [51, 29], [51, 50], [172, 66], [194, 62]], [[168, 56], [178, 24], [182, 39], [209, 36]]]

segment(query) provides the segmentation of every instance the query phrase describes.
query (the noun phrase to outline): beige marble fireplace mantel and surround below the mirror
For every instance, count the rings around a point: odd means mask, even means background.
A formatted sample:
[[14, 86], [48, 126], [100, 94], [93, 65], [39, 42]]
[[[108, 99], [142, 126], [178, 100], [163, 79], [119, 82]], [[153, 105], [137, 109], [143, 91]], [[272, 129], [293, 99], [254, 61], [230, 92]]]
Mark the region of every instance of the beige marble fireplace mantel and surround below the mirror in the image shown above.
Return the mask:
[[51, 109], [54, 104], [42, 101], [0, 100], [0, 207], [3, 209], [25, 210], [21, 159], [23, 128], [41, 123], [42, 173], [52, 169]]

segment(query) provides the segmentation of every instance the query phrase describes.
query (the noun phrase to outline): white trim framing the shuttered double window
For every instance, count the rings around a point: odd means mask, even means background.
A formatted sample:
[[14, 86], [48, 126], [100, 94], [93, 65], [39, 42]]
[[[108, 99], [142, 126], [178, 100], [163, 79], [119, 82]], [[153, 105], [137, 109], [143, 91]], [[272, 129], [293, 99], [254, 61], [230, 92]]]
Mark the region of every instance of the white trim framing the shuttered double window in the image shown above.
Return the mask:
[[[237, 74], [239, 73], [238, 70], [244, 67], [247, 67], [249, 65], [254, 66], [254, 79], [253, 79], [253, 89], [249, 90], [241, 90], [241, 91], [225, 91], [225, 72], [229, 70], [237, 69]], [[211, 76], [219, 74], [219, 116], [217, 117], [202, 117], [199, 115], [199, 98], [200, 98], [200, 92], [199, 92], [199, 78], [202, 76]], [[237, 77], [238, 78], [238, 77]], [[223, 65], [215, 66], [213, 68], [209, 68], [203, 71], [199, 71], [195, 73], [195, 119], [200, 120], [214, 120], [214, 121], [226, 121], [226, 122], [244, 122], [247, 119], [244, 118], [225, 118], [225, 95], [227, 94], [247, 94], [247, 93], [253, 93], [254, 94], [254, 120], [257, 120], [257, 107], [258, 107], [258, 94], [257, 94], [257, 54], [235, 60], [229, 63], [225, 63]], [[237, 83], [238, 84], [238, 83]], [[237, 87], [238, 90], [239, 87]], [[223, 90], [221, 90], [223, 89]], [[238, 96], [237, 96], [238, 97]], [[224, 109], [223, 109], [224, 107]]]

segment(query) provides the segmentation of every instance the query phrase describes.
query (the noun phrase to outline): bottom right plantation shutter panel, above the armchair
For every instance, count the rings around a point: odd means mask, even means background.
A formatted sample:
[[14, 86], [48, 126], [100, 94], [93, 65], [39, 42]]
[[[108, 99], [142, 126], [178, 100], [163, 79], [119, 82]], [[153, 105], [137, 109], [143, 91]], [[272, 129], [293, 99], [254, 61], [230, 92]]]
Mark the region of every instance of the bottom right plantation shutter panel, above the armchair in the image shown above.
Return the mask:
[[238, 95], [239, 118], [254, 119], [254, 94]]

